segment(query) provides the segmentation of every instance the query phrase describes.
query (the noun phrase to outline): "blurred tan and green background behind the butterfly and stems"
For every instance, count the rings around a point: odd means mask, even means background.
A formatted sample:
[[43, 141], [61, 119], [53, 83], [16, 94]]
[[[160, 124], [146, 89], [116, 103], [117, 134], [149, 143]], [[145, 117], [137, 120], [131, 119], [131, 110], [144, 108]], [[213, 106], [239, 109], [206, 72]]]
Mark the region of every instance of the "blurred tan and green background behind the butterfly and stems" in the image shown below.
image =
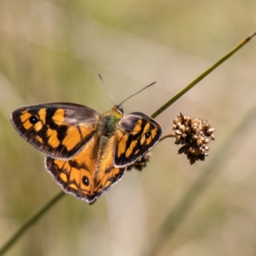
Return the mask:
[[[60, 188], [44, 156], [9, 121], [13, 109], [76, 102], [103, 113], [143, 86], [125, 113], [150, 115], [256, 30], [256, 2], [0, 0], [0, 246]], [[216, 128], [206, 161], [190, 166], [173, 139], [153, 150], [93, 205], [67, 195], [6, 255], [150, 253], [166, 216], [209, 168], [256, 102], [256, 38], [156, 120], [164, 134], [181, 112]], [[255, 255], [255, 122], [211, 176], [184, 221], [154, 255]], [[146, 255], [147, 255], [146, 253]]]

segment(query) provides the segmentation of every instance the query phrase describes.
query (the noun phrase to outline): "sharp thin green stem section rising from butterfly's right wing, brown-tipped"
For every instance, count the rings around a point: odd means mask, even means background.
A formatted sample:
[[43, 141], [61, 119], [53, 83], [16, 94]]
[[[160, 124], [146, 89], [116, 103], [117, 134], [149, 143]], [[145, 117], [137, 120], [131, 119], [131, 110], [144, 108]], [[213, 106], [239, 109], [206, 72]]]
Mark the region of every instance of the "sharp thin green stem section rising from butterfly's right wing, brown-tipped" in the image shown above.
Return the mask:
[[236, 47], [234, 47], [230, 52], [228, 52], [225, 56], [223, 56], [220, 60], [218, 60], [216, 63], [214, 63], [214, 65], [212, 65], [211, 67], [209, 67], [207, 70], [205, 70], [204, 73], [202, 73], [200, 76], [198, 76], [194, 81], [192, 81], [191, 83], [189, 83], [186, 87], [184, 87], [182, 90], [180, 90], [180, 92], [178, 92], [176, 95], [174, 95], [172, 97], [172, 99], [168, 100], [168, 102], [166, 102], [165, 104], [163, 104], [163, 106], [161, 106], [161, 108], [157, 109], [156, 112], [154, 112], [151, 117], [152, 118], [156, 118], [156, 116], [158, 116], [159, 114], [161, 114], [166, 108], [170, 107], [173, 102], [175, 102], [177, 99], [179, 99], [182, 95], [184, 95], [186, 92], [188, 92], [188, 90], [190, 90], [191, 88], [193, 88], [193, 86], [195, 86], [197, 83], [199, 83], [202, 79], [204, 79], [205, 76], [207, 76], [208, 74], [210, 74], [215, 68], [219, 67], [221, 65], [221, 63], [223, 63], [225, 60], [227, 60], [228, 58], [230, 58], [230, 56], [232, 56], [236, 51], [238, 51], [241, 47], [243, 47], [245, 44], [247, 44], [252, 38], [253, 36], [256, 35], [256, 32], [253, 33], [252, 35], [248, 36], [247, 38], [245, 38], [240, 44], [238, 44]]

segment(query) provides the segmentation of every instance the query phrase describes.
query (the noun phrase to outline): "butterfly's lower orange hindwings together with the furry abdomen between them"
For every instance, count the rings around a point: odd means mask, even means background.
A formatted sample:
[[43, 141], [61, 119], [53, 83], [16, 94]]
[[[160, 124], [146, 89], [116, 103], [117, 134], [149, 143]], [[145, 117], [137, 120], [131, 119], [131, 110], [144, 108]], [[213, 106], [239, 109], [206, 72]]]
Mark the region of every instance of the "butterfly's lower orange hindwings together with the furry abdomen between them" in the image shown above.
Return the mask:
[[96, 135], [68, 161], [46, 157], [45, 167], [66, 193], [92, 204], [124, 174], [125, 168], [113, 166], [111, 145]]

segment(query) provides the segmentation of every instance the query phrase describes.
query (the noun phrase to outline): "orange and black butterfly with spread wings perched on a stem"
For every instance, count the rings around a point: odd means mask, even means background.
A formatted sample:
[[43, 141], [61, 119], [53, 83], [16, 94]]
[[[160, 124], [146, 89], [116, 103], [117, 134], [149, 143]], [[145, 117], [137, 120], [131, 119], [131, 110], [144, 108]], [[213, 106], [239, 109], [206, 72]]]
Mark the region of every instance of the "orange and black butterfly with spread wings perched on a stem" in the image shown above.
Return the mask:
[[74, 103], [24, 106], [12, 112], [11, 122], [46, 155], [45, 168], [63, 191], [88, 204], [120, 180], [162, 133], [144, 113], [124, 115], [121, 104], [102, 115]]

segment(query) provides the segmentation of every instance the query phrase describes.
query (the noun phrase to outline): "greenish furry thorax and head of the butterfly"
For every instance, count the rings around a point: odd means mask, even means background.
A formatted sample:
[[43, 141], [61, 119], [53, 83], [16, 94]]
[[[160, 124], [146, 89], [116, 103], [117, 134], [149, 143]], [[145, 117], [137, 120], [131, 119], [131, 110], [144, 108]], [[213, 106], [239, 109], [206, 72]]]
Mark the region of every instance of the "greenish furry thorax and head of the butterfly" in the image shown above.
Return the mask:
[[123, 116], [121, 106], [115, 106], [111, 110], [102, 115], [102, 120], [99, 122], [99, 130], [102, 136], [110, 137], [116, 131], [118, 122]]

